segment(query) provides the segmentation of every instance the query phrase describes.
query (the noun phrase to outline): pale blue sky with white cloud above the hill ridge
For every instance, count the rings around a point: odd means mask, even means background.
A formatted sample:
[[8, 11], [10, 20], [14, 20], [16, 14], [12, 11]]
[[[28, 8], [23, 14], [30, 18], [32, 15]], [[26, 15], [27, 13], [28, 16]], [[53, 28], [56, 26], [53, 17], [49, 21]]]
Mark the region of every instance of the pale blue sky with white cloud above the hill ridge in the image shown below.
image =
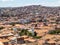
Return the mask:
[[60, 0], [0, 0], [0, 7], [21, 7], [28, 5], [60, 6]]

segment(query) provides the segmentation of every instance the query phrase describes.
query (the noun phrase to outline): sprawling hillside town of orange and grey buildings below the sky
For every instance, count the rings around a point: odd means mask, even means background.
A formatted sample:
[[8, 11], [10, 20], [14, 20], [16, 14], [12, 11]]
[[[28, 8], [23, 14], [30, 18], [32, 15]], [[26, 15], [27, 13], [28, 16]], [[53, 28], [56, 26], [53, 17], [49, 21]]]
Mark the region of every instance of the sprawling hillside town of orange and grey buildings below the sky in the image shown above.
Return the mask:
[[0, 45], [60, 45], [59, 7], [0, 8]]

